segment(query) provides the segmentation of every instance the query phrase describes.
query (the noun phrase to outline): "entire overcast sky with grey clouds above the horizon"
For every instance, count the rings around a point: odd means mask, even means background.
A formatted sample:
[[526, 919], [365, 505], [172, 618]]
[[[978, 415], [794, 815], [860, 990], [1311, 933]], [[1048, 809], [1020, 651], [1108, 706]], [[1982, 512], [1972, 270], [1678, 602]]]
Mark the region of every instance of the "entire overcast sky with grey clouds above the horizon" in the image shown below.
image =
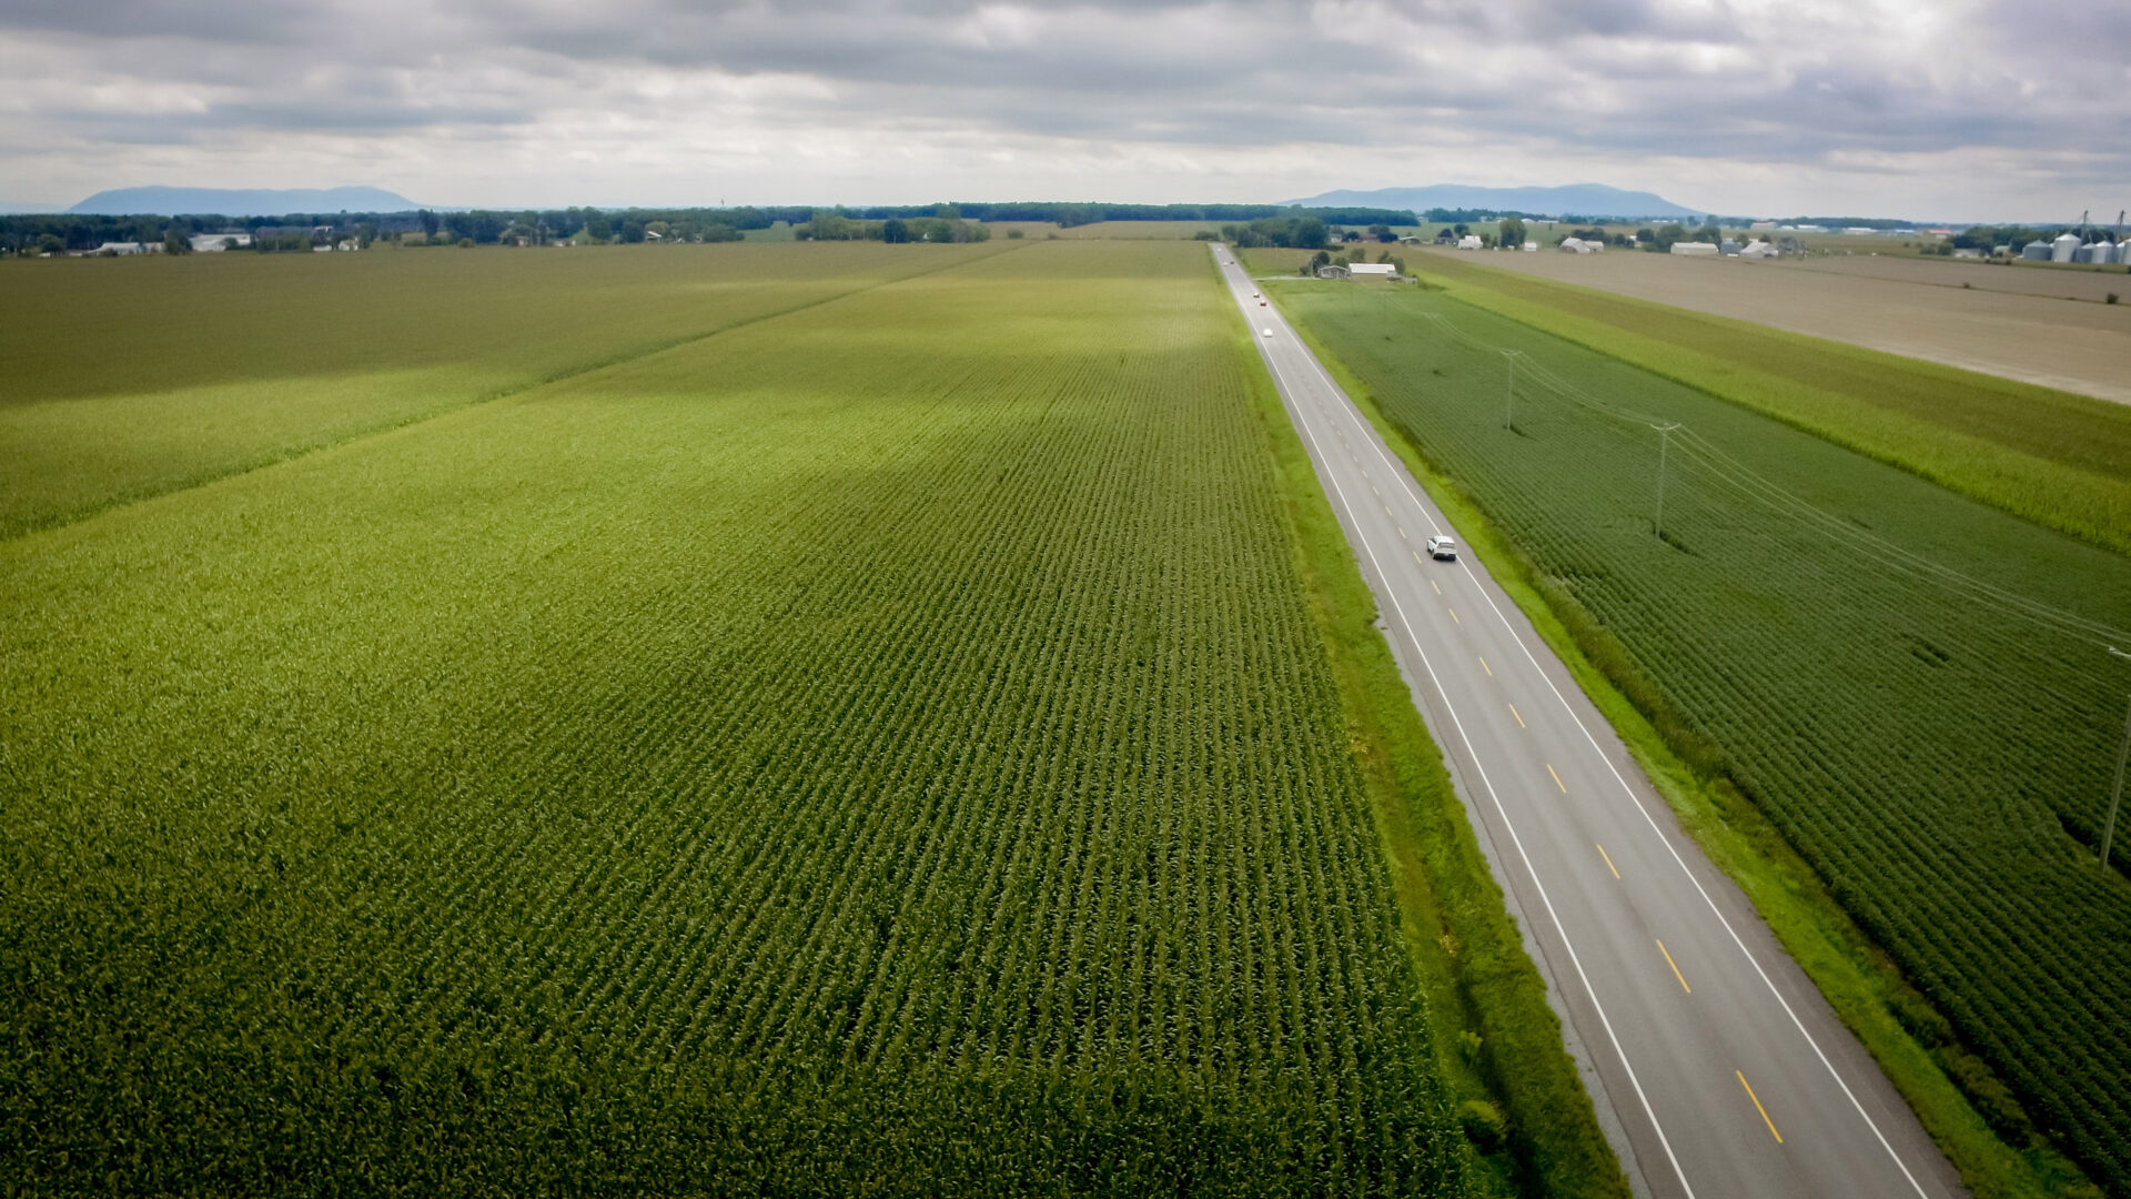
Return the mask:
[[2127, 0], [0, 0], [0, 201], [2131, 205]]

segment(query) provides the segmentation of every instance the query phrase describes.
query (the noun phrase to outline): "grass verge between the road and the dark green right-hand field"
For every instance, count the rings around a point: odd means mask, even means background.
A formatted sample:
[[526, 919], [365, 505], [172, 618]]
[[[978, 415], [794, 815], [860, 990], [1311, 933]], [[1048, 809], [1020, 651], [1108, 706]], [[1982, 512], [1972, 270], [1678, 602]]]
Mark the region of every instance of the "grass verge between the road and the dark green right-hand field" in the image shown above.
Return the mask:
[[[1696, 742], [1688, 721], [1671, 710], [1656, 681], [1641, 674], [1613, 634], [1575, 597], [1549, 582], [1545, 572], [1481, 514], [1466, 491], [1383, 416], [1368, 386], [1345, 363], [1304, 324], [1296, 329], [1443, 508], [1466, 540], [1468, 553], [1479, 557], [1583, 693], [1598, 704], [1671, 804], [1681, 828], [1739, 883], [1784, 952], [1865, 1043], [1916, 1109], [1924, 1131], [1961, 1171], [1969, 1193], [1978, 1199], [2099, 1199], [2101, 1190], [2033, 1131], [2005, 1084], [1954, 1039], [1946, 1018], [1841, 911], [1813, 868], [1767, 817], [1720, 772], [1690, 766], [1690, 762], [1715, 762], [1720, 755]], [[1999, 1129], [2007, 1135], [2001, 1137]]]

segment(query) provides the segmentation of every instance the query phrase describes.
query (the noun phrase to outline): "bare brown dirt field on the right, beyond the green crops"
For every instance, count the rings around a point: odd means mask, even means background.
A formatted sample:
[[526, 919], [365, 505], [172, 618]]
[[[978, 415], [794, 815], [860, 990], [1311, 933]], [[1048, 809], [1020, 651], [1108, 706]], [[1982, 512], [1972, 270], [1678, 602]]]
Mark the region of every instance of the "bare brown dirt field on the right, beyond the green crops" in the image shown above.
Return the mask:
[[[1867, 256], [1752, 262], [1637, 252], [1468, 252], [1458, 258], [2131, 403], [2125, 371], [2131, 275]], [[2086, 303], [2110, 290], [2125, 303]]]

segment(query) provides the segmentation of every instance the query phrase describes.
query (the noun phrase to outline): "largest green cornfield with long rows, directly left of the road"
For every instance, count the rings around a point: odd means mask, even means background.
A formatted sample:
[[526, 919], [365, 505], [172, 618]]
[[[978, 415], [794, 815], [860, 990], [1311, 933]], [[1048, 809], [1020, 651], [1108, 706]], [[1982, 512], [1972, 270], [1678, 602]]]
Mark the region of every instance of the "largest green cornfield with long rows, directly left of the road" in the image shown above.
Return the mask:
[[891, 250], [9, 493], [9, 1190], [1470, 1190], [1206, 252]]

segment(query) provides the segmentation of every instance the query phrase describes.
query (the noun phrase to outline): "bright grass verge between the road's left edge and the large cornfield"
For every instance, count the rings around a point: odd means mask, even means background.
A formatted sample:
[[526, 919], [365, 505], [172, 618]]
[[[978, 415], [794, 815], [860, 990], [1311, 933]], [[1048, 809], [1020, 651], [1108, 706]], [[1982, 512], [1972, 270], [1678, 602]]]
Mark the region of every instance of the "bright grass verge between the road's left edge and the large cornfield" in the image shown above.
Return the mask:
[[[1234, 341], [1392, 866], [1436, 1062], [1479, 1150], [1481, 1182], [1496, 1195], [1626, 1197], [1626, 1176], [1562, 1043], [1545, 979], [1524, 952], [1443, 751], [1377, 627], [1377, 600], [1240, 316]], [[1500, 1144], [1475, 1105], [1507, 1116]]]

